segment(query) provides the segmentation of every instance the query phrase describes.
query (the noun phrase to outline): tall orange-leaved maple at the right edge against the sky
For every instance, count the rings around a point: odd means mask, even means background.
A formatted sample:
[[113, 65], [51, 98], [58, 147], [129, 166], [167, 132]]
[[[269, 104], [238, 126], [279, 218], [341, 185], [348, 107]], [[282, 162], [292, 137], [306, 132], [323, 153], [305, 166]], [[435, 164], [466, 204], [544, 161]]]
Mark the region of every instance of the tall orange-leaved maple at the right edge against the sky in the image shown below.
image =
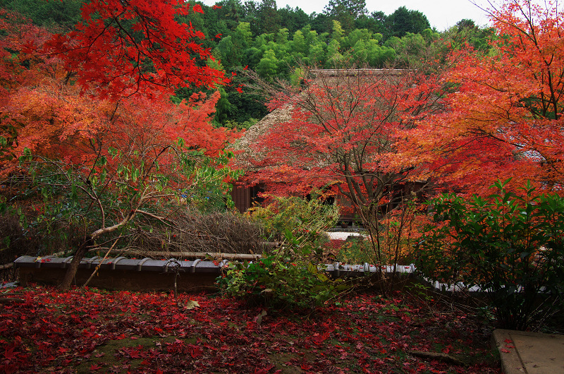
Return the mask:
[[518, 186], [530, 179], [563, 187], [561, 12], [556, 2], [508, 1], [491, 10], [498, 38], [488, 54], [470, 47], [453, 53], [448, 111], [410, 136], [412, 149], [429, 151], [427, 171], [450, 188], [487, 193], [509, 177]]

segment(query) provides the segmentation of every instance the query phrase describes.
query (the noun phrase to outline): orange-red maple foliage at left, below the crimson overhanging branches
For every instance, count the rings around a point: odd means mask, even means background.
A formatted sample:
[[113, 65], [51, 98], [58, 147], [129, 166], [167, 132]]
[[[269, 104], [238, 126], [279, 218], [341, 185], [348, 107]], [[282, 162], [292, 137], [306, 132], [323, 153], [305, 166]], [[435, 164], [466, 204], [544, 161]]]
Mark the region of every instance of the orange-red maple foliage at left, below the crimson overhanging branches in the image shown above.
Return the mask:
[[93, 90], [82, 95], [84, 88], [71, 84], [72, 74], [61, 59], [37, 52], [49, 39], [48, 32], [7, 13], [0, 17], [0, 26], [8, 30], [0, 39], [4, 174], [17, 168], [25, 148], [42, 157], [90, 164], [101, 155], [100, 147], [105, 148], [102, 155], [114, 147], [124, 154], [147, 152], [152, 157], [178, 138], [214, 156], [237, 135], [210, 123], [219, 92], [210, 97], [194, 94], [180, 104], [163, 95], [122, 97], [118, 102], [95, 97]]

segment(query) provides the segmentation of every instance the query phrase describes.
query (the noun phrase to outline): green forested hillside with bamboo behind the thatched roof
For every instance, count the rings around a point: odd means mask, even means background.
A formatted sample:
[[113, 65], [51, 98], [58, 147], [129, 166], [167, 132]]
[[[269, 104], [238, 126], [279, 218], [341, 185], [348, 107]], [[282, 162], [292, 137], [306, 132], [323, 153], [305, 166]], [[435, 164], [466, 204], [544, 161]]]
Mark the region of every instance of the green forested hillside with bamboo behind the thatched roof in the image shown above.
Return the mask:
[[[4, 8], [18, 11], [36, 25], [65, 32], [80, 20], [85, 1], [4, 0]], [[300, 65], [338, 68], [353, 62], [374, 68], [406, 68], [431, 44], [458, 45], [462, 40], [485, 48], [493, 35], [480, 29], [472, 20], [460, 20], [450, 30], [431, 30], [427, 17], [405, 6], [386, 16], [381, 11], [368, 13], [364, 0], [329, 0], [319, 13], [307, 14], [300, 8], [278, 8], [275, 0], [223, 0], [214, 6], [190, 1], [194, 11], [178, 16], [201, 30], [204, 47], [211, 49], [220, 68], [231, 76], [231, 84], [218, 88], [217, 126], [245, 128], [266, 114], [265, 99], [245, 88], [245, 70], [256, 71], [267, 80], [295, 78]], [[199, 7], [197, 7], [199, 5]], [[433, 47], [431, 53], [444, 54]], [[450, 49], [450, 48], [449, 48]], [[187, 98], [193, 90], [178, 90]]]

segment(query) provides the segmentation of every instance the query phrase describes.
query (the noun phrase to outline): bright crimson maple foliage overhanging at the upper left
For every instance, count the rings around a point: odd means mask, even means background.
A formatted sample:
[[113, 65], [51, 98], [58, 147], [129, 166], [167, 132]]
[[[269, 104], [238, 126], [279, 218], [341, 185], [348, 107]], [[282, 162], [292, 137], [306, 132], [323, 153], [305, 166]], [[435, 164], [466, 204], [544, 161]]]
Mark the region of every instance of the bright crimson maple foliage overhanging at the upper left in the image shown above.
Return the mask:
[[102, 98], [214, 88], [225, 78], [205, 64], [213, 56], [202, 47], [204, 34], [180, 21], [190, 12], [203, 13], [180, 0], [91, 0], [75, 30], [54, 35], [44, 51], [61, 56], [69, 76]]

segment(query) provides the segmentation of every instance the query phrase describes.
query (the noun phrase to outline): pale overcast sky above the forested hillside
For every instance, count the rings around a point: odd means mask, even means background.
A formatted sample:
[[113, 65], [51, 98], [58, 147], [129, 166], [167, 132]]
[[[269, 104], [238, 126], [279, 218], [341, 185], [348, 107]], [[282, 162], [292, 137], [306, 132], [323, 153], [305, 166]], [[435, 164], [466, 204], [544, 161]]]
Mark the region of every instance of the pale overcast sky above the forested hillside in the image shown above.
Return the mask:
[[[255, 0], [261, 2], [260, 0]], [[204, 4], [212, 6], [216, 0], [204, 0]], [[474, 0], [476, 4], [487, 4], [486, 0]], [[329, 0], [276, 0], [278, 8], [284, 8], [289, 5], [291, 8], [298, 6], [307, 14], [313, 12], [321, 13], [325, 6], [329, 4]], [[480, 8], [472, 4], [470, 0], [366, 0], [369, 12], [383, 11], [386, 15], [390, 15], [400, 6], [412, 11], [420, 11], [429, 20], [431, 27], [435, 27], [439, 31], [446, 30], [450, 26], [455, 25], [462, 18], [474, 20], [479, 26], [485, 26], [489, 23], [486, 13]]]

